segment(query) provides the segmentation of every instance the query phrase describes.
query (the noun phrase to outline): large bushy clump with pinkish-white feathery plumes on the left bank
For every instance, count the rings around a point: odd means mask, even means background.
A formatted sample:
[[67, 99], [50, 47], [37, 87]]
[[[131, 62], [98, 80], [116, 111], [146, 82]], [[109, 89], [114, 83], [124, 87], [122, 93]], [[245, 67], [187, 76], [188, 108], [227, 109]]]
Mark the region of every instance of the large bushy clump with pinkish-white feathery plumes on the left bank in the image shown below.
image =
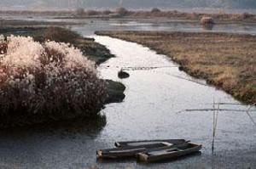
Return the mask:
[[79, 49], [32, 37], [7, 39], [0, 42], [0, 117], [8, 116], [8, 125], [96, 115], [102, 109], [105, 84]]

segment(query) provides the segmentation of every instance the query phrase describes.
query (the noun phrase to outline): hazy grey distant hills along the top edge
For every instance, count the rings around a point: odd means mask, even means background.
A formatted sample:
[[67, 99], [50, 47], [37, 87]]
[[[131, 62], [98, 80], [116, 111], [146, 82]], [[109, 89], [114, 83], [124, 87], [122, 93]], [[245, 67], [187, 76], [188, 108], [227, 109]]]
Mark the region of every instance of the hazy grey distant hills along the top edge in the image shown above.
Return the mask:
[[[117, 8], [120, 0], [0, 0], [4, 9]], [[256, 0], [123, 0], [125, 8], [256, 8]]]

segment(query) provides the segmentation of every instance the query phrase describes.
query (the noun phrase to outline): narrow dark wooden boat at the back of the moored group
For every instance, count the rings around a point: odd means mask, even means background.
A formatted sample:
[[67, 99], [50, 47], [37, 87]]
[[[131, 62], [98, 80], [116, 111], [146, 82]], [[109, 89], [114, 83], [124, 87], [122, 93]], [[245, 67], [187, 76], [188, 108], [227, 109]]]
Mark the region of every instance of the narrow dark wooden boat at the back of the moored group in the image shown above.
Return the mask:
[[159, 139], [159, 140], [141, 140], [141, 141], [130, 141], [130, 142], [116, 142], [116, 147], [136, 147], [136, 148], [159, 148], [171, 146], [172, 144], [183, 144], [186, 140], [184, 139]]

